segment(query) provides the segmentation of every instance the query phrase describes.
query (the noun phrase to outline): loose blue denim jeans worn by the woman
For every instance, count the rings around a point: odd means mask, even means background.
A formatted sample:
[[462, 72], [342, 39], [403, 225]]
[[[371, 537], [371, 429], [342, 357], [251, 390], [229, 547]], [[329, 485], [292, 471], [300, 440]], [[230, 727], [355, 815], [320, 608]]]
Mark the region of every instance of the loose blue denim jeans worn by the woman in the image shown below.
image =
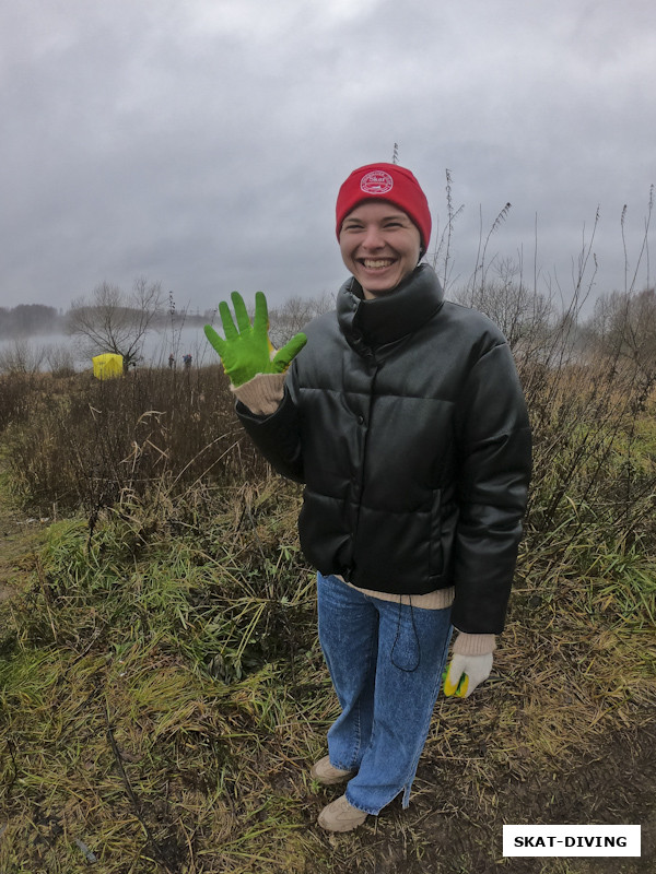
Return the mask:
[[423, 749], [452, 636], [450, 607], [382, 601], [318, 575], [319, 641], [342, 712], [328, 732], [347, 800], [376, 815], [403, 807]]

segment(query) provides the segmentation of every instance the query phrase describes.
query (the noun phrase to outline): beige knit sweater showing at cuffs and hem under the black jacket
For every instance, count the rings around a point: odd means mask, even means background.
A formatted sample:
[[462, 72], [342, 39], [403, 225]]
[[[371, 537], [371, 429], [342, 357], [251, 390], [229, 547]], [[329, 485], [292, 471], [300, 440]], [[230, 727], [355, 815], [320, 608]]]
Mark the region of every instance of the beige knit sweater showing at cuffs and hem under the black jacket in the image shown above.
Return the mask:
[[[232, 389], [234, 395], [251, 413], [258, 416], [271, 415], [278, 410], [284, 391], [284, 374], [257, 374], [249, 382]], [[348, 583], [352, 586], [352, 583]], [[353, 589], [358, 587], [352, 586]], [[358, 591], [382, 601], [398, 602], [399, 595], [389, 592], [376, 592], [372, 589], [360, 589]], [[411, 604], [413, 607], [423, 610], [442, 610], [452, 605], [455, 590], [437, 589], [427, 594], [400, 595], [401, 603]], [[469, 635], [458, 631], [453, 646], [454, 653], [462, 656], [484, 656], [494, 652], [496, 649], [495, 635]]]

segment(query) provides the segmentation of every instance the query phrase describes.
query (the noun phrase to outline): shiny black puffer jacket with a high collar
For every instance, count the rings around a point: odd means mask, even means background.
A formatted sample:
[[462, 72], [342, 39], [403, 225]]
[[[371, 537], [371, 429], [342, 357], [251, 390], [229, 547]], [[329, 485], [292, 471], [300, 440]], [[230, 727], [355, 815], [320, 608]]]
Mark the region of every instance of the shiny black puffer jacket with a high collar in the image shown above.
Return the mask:
[[305, 483], [306, 558], [382, 592], [455, 586], [454, 625], [500, 633], [530, 477], [503, 335], [445, 303], [426, 264], [376, 300], [351, 279], [306, 333], [279, 410], [237, 404], [272, 465]]

